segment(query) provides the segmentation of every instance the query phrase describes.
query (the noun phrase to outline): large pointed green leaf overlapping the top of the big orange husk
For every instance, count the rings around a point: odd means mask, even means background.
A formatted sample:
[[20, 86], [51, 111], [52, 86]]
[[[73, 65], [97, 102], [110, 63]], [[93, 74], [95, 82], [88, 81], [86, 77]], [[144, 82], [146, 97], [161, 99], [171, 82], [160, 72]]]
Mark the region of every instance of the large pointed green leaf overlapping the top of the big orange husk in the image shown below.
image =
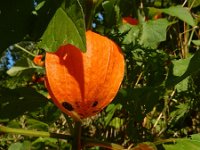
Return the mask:
[[65, 0], [57, 9], [39, 46], [48, 52], [55, 52], [61, 45], [72, 44], [86, 50], [85, 22], [79, 1]]

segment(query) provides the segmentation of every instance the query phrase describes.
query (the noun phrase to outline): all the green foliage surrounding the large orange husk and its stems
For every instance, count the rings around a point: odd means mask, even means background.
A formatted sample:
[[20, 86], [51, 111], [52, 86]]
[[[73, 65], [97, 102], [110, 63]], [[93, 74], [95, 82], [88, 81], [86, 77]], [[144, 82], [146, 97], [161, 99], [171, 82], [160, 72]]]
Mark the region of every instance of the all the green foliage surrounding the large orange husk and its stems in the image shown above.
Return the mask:
[[[199, 8], [199, 0], [0, 2], [0, 126], [72, 134], [73, 120], [48, 98], [45, 69], [32, 60], [61, 44], [84, 51], [91, 26], [122, 48], [126, 73], [115, 100], [84, 120], [82, 136], [130, 149], [198, 149]], [[71, 149], [71, 139], [0, 137], [0, 149]]]

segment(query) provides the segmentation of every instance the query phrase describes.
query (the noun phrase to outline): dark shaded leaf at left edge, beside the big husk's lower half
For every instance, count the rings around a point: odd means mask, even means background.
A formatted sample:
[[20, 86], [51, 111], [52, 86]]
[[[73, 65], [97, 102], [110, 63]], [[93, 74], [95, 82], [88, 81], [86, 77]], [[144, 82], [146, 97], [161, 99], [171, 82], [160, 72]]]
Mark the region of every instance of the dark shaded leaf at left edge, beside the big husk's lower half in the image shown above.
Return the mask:
[[44, 107], [48, 99], [32, 88], [0, 88], [0, 118], [13, 119]]

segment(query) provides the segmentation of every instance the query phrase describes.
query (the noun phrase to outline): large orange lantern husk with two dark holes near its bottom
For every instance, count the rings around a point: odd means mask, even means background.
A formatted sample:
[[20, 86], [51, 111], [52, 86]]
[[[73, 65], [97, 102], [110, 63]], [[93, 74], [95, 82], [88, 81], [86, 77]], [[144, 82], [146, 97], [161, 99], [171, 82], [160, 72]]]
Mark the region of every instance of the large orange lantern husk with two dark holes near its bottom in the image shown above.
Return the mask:
[[87, 51], [68, 44], [46, 53], [46, 86], [53, 102], [75, 120], [93, 116], [116, 96], [124, 76], [121, 49], [86, 32]]

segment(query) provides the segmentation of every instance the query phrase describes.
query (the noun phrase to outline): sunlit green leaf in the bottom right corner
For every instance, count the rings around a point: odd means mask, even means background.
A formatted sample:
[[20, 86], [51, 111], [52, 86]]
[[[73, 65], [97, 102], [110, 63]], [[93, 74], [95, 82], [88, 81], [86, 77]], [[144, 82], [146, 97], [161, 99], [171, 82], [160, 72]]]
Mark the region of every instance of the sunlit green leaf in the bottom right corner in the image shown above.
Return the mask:
[[174, 144], [163, 144], [165, 150], [198, 150], [200, 147], [200, 134], [194, 134], [189, 138], [177, 139]]

